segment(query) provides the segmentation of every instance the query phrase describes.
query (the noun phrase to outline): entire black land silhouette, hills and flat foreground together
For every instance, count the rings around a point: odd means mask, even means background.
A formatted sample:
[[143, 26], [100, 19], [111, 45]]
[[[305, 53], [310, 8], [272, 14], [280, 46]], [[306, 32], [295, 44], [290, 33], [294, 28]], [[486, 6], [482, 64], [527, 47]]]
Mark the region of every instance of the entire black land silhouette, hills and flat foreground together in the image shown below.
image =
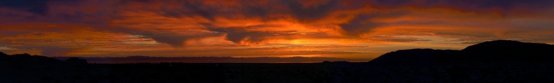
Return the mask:
[[554, 82], [554, 46], [507, 40], [410, 49], [370, 62], [87, 64], [0, 53], [0, 82]]

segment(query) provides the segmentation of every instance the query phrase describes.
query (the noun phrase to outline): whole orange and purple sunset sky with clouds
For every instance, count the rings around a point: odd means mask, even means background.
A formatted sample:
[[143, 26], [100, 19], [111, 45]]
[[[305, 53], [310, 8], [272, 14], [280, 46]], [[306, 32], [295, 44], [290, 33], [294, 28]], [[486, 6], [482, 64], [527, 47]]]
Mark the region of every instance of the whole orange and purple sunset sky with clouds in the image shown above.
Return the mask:
[[554, 44], [552, 0], [3, 0], [0, 52], [49, 57], [338, 57]]

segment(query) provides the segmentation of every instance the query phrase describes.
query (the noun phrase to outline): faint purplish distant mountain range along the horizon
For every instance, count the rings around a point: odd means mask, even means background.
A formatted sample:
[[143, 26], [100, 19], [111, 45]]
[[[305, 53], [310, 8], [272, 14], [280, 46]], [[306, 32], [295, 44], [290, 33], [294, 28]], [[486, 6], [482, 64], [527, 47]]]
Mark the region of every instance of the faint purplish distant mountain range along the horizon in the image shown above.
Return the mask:
[[[55, 59], [69, 59], [70, 57], [53, 57]], [[334, 57], [80, 57], [89, 63], [96, 64], [129, 64], [129, 63], [313, 63], [329, 61], [365, 61], [364, 59], [341, 59]]]

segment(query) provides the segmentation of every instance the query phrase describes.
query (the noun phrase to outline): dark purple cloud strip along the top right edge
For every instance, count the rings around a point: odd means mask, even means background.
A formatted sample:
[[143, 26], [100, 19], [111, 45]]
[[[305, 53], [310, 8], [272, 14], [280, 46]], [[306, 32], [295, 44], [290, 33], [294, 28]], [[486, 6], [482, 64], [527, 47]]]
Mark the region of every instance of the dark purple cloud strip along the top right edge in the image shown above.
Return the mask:
[[506, 14], [515, 8], [539, 12], [541, 8], [551, 8], [551, 0], [375, 0], [370, 1], [376, 7], [415, 6], [424, 8], [447, 7], [467, 12], [487, 12], [498, 10]]

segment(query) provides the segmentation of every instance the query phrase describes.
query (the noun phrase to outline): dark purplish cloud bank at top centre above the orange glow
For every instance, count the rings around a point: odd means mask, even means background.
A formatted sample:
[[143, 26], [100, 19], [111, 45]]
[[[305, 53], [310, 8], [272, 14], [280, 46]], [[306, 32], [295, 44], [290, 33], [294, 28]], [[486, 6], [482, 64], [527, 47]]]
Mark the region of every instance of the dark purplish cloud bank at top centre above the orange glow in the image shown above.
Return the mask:
[[[248, 17], [262, 17], [263, 19], [277, 19], [270, 15], [292, 14], [295, 18], [304, 22], [311, 22], [321, 19], [333, 12], [338, 0], [327, 1], [327, 3], [313, 6], [303, 6], [299, 1], [270, 1], [269, 3], [258, 3], [256, 1], [238, 1], [240, 6], [234, 6], [234, 10], [224, 10], [226, 4], [207, 5], [202, 1], [177, 1], [175, 6], [180, 8], [162, 7], [162, 15], [167, 17], [191, 17], [201, 16], [209, 20], [215, 17], [233, 18], [232, 15], [246, 15]], [[260, 5], [266, 4], [266, 5]]]

